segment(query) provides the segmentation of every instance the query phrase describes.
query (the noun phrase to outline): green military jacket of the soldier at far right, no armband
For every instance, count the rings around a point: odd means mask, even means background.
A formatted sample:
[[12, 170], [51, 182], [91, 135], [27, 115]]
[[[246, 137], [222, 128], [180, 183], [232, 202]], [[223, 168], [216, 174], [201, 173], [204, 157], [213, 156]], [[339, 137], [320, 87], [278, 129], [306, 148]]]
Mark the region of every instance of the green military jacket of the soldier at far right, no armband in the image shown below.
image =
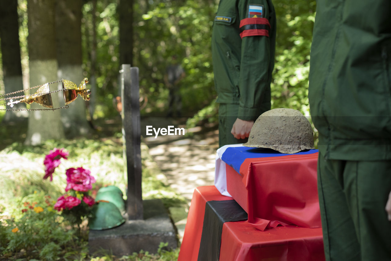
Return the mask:
[[391, 1], [317, 0], [309, 102], [328, 159], [391, 159]]

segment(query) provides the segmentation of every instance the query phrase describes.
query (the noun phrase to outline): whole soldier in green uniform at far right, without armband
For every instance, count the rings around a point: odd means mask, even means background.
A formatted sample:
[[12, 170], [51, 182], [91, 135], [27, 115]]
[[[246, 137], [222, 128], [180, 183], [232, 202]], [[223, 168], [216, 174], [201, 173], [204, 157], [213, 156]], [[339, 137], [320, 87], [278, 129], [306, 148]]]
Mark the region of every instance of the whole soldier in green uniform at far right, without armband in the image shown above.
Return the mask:
[[326, 260], [391, 260], [391, 1], [316, 8], [308, 97]]

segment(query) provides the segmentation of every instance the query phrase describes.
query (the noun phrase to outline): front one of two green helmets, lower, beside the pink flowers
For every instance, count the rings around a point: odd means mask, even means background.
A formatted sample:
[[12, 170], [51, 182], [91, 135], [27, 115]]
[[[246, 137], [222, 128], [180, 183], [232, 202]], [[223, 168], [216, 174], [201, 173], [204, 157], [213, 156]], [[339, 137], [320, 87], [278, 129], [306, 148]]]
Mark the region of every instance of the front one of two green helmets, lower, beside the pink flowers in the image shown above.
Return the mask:
[[91, 209], [92, 217], [88, 221], [91, 230], [104, 230], [118, 227], [125, 222], [120, 210], [111, 202], [99, 201]]

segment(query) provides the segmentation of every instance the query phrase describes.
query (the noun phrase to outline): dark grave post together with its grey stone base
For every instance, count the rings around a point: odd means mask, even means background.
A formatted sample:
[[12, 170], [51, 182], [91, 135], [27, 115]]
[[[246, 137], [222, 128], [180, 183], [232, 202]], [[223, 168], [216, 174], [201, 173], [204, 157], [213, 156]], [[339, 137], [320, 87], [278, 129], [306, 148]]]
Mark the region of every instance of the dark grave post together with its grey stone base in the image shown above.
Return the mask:
[[163, 202], [159, 199], [142, 200], [138, 68], [130, 67], [129, 64], [121, 65], [119, 82], [124, 158], [127, 167], [128, 220], [114, 228], [90, 230], [88, 250], [90, 254], [94, 254], [105, 249], [115, 256], [124, 256], [140, 250], [156, 253], [161, 242], [167, 242], [169, 248], [176, 248], [176, 230]]

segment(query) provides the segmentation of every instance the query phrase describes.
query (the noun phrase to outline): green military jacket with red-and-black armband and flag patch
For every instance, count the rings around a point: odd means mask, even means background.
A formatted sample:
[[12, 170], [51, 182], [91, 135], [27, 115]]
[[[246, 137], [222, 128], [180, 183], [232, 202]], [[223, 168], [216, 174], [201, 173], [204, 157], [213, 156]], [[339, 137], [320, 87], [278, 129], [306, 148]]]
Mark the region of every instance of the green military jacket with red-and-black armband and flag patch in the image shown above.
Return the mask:
[[218, 103], [239, 104], [238, 118], [270, 110], [276, 14], [271, 0], [221, 0], [213, 21]]

